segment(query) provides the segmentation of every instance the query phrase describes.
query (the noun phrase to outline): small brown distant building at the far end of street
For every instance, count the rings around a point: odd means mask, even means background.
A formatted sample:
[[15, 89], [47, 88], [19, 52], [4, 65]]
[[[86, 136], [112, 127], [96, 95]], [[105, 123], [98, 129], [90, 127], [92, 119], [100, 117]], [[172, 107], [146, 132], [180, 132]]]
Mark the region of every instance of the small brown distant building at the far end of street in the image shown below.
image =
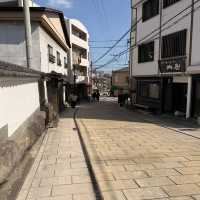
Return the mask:
[[125, 67], [112, 72], [112, 92], [114, 96], [119, 93], [129, 93], [129, 68]]

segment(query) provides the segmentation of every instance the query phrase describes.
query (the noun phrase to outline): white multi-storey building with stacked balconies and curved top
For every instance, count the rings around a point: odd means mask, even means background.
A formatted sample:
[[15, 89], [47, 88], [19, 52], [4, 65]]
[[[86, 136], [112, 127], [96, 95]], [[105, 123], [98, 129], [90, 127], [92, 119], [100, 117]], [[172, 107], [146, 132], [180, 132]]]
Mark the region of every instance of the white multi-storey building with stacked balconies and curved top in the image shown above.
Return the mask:
[[87, 28], [76, 19], [66, 19], [71, 49], [69, 51], [70, 83], [75, 85], [80, 98], [90, 90], [90, 50]]

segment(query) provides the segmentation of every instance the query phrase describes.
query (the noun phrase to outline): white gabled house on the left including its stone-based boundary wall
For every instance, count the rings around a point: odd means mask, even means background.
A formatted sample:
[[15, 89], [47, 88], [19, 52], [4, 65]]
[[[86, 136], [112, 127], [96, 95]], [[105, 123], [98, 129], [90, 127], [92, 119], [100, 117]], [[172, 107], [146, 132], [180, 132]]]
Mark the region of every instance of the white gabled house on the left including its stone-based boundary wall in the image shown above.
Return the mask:
[[27, 69], [23, 8], [5, 5], [0, 4], [0, 184], [45, 128], [57, 125], [69, 86], [63, 13], [30, 8], [32, 65]]

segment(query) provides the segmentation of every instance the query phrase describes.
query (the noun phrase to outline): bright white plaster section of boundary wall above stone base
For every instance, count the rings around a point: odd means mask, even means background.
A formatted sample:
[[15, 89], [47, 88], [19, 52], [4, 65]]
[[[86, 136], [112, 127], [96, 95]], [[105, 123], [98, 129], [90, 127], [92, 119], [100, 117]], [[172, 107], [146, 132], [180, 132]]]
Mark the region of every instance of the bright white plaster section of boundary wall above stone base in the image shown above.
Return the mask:
[[10, 137], [40, 106], [38, 83], [0, 87], [0, 127]]

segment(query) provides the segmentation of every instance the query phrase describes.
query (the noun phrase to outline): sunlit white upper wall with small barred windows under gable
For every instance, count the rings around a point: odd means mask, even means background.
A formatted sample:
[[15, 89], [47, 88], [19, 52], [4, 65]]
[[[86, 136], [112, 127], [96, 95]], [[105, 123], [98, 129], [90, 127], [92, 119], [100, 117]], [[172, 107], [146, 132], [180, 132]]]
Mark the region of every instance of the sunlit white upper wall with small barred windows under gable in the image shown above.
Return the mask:
[[[40, 52], [41, 52], [41, 71], [50, 73], [51, 71], [56, 71], [57, 73], [62, 73], [67, 75], [67, 69], [64, 68], [64, 57], [67, 58], [67, 52], [65, 52], [56, 41], [51, 38], [47, 32], [39, 27], [39, 40], [40, 40]], [[48, 45], [53, 47], [53, 55], [55, 56], [55, 63], [49, 62], [48, 56]], [[62, 66], [57, 65], [57, 53], [60, 52]]]

